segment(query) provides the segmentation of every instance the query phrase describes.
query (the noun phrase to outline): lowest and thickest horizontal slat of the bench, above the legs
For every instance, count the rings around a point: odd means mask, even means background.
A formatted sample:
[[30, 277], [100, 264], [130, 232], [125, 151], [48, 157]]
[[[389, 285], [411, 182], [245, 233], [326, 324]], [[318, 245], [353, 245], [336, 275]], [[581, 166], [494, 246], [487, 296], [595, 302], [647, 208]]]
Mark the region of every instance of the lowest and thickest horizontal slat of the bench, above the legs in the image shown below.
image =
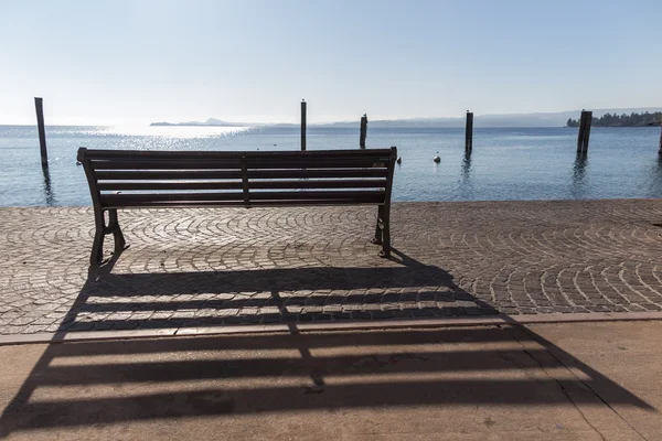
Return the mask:
[[[360, 200], [378, 203], [384, 201], [384, 191], [310, 191], [310, 192], [250, 192], [250, 203], [258, 201], [335, 201]], [[177, 202], [190, 204], [196, 202], [243, 201], [242, 193], [161, 193], [161, 194], [103, 194], [103, 206], [139, 206], [146, 203]]]

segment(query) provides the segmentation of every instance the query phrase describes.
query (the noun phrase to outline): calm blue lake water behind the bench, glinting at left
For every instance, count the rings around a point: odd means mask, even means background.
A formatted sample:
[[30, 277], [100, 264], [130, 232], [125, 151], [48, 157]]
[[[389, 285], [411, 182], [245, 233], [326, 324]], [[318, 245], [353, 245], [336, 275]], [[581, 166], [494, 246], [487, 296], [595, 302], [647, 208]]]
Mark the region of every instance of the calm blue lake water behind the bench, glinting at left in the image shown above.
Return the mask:
[[[577, 129], [476, 128], [465, 157], [463, 129], [370, 128], [369, 148], [396, 146], [395, 201], [501, 201], [662, 197], [660, 128], [592, 128], [577, 159]], [[50, 183], [35, 127], [0, 126], [0, 205], [89, 205], [78, 147], [148, 150], [298, 150], [299, 129], [47, 127]], [[309, 150], [355, 149], [359, 127], [308, 130]], [[435, 164], [433, 157], [441, 157]]]

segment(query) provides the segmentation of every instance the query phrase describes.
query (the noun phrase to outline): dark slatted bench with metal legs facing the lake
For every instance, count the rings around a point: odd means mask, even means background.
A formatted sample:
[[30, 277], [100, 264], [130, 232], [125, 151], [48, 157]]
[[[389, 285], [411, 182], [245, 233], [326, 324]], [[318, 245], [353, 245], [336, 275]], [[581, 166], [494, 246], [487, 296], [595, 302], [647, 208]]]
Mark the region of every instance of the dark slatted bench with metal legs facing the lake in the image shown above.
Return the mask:
[[396, 158], [395, 147], [268, 152], [81, 148], [96, 222], [90, 263], [102, 262], [106, 235], [114, 235], [116, 254], [125, 248], [117, 211], [147, 207], [377, 205], [372, 241], [388, 257]]

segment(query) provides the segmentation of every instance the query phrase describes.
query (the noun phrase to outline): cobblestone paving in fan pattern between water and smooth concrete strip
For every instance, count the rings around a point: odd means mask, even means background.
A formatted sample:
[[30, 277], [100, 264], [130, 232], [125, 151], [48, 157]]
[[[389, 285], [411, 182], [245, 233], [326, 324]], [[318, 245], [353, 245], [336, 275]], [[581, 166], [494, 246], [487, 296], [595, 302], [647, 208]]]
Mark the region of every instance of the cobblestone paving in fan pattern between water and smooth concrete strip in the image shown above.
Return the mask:
[[375, 212], [120, 212], [88, 277], [90, 208], [0, 208], [0, 334], [662, 310], [662, 201], [395, 204], [391, 260]]

